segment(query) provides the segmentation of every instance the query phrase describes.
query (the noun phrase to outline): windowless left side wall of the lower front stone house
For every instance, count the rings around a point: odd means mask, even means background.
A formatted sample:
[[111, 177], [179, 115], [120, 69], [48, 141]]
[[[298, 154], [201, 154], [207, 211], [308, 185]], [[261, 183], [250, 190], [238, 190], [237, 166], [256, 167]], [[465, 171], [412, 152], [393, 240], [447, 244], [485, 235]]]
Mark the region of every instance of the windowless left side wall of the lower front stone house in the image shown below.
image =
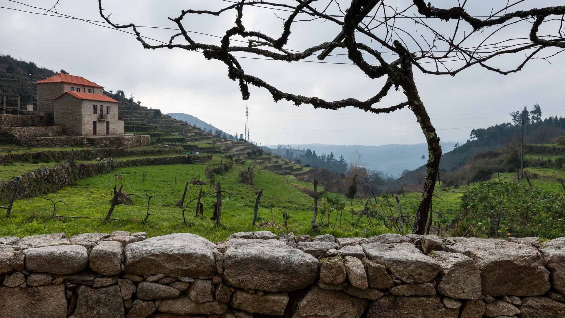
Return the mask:
[[[57, 98], [54, 103], [54, 123], [56, 126], [61, 126], [71, 135], [82, 136], [84, 127], [84, 115], [81, 108], [85, 101], [65, 94]], [[90, 113], [92, 113], [92, 106], [90, 106]], [[90, 118], [88, 121], [90, 122]], [[92, 135], [92, 122], [90, 122], [90, 135]]]

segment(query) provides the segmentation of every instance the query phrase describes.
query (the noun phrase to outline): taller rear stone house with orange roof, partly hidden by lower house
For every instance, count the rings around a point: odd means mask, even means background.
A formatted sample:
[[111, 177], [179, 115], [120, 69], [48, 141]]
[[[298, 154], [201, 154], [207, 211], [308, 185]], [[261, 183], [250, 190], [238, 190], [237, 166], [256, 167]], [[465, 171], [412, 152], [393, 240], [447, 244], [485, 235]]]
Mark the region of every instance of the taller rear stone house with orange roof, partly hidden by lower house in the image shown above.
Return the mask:
[[[44, 124], [53, 124], [55, 98], [65, 92], [103, 94], [104, 87], [82, 76], [55, 74], [35, 82], [37, 84], [37, 112]], [[117, 107], [116, 107], [117, 111]]]

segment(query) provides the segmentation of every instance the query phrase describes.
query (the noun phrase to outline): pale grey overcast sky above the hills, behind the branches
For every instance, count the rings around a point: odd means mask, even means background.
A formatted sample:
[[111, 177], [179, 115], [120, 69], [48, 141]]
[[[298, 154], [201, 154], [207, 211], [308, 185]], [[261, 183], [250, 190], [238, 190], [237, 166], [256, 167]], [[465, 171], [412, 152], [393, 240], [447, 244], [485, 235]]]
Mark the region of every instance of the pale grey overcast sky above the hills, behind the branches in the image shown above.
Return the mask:
[[[55, 0], [21, 0], [28, 5], [50, 8]], [[342, 1], [343, 2], [343, 1]], [[406, 0], [399, 0], [405, 3]], [[473, 15], [488, 15], [490, 7], [481, 1], [469, 1]], [[493, 1], [497, 5], [505, 1]], [[528, 8], [563, 5], [561, 1], [526, 1]], [[136, 3], [132, 7], [132, 3]], [[438, 7], [453, 6], [455, 1], [436, 1]], [[176, 25], [167, 17], [176, 17], [181, 9], [218, 10], [229, 5], [221, 0], [104, 1], [105, 14], [115, 23], [135, 23], [154, 27]], [[0, 6], [45, 13], [45, 10], [0, 0]], [[319, 5], [321, 6], [321, 4]], [[60, 0], [59, 13], [81, 19], [101, 20], [98, 1]], [[247, 29], [260, 30], [279, 37], [283, 21], [272, 10], [246, 9]], [[278, 16], [288, 12], [276, 12]], [[233, 26], [234, 12], [216, 16], [187, 16], [185, 28], [193, 32], [223, 36]], [[438, 24], [441, 30], [453, 30], [449, 23]], [[408, 26], [407, 26], [408, 27]], [[526, 26], [527, 27], [527, 26]], [[411, 27], [414, 29], [414, 26]], [[132, 35], [103, 28], [81, 20], [34, 15], [0, 8], [0, 53], [33, 61], [51, 70], [63, 68], [73, 75], [84, 76], [105, 87], [134, 94], [142, 105], [159, 108], [163, 113], [188, 113], [231, 134], [244, 132], [245, 107], [249, 106], [250, 139], [262, 144], [415, 144], [425, 142], [415, 117], [405, 109], [393, 114], [374, 115], [357, 109], [340, 111], [299, 108], [290, 102], [273, 102], [264, 89], [251, 87], [251, 97], [241, 99], [236, 82], [227, 77], [227, 68], [218, 61], [208, 61], [201, 53], [182, 49], [146, 50]], [[145, 36], [168, 42], [176, 33], [166, 29], [140, 29]], [[308, 46], [331, 41], [340, 31], [336, 25], [321, 21], [294, 25], [286, 48], [303, 50]], [[453, 32], [453, 31], [447, 31]], [[218, 44], [219, 38], [191, 33], [195, 40]], [[476, 40], [481, 40], [477, 35]], [[509, 31], [506, 37], [527, 37], [527, 28]], [[314, 40], [312, 40], [314, 39]], [[371, 44], [370, 42], [367, 42]], [[375, 47], [375, 49], [378, 49]], [[340, 51], [339, 53], [344, 53]], [[523, 53], [518, 58], [523, 57]], [[310, 58], [311, 61], [317, 61]], [[327, 62], [349, 62], [345, 57], [328, 57]], [[473, 127], [488, 127], [509, 122], [510, 111], [524, 105], [540, 104], [545, 115], [565, 113], [563, 83], [565, 54], [549, 60], [529, 62], [521, 72], [500, 75], [475, 67], [457, 76], [423, 75], [415, 71], [416, 84], [432, 123], [442, 141], [465, 141]], [[511, 66], [515, 61], [501, 61]], [[249, 74], [259, 76], [285, 92], [317, 96], [326, 100], [373, 96], [383, 84], [371, 80], [353, 65], [309, 62], [275, 62], [242, 59]], [[393, 92], [379, 106], [402, 102], [401, 93]]]

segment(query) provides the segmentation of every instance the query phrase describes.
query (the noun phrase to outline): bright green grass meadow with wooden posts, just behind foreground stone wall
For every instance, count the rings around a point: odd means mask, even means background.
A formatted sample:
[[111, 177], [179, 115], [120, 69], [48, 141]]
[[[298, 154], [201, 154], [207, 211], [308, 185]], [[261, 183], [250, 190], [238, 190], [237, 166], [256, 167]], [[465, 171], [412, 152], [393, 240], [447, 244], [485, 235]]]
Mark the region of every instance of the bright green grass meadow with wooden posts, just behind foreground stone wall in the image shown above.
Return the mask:
[[[76, 183], [74, 187], [67, 187], [55, 194], [45, 195], [44, 197], [55, 201], [64, 201], [64, 204], [57, 205], [56, 213], [66, 216], [88, 216], [104, 217], [110, 207], [111, 189], [114, 184], [118, 187], [124, 184], [123, 191], [128, 194], [148, 194], [155, 196], [151, 199], [150, 216], [144, 222], [146, 214], [146, 196], [132, 196], [134, 205], [118, 205], [112, 217], [120, 220], [111, 220], [106, 223], [99, 219], [76, 219], [76, 218], [57, 218], [51, 219], [53, 204], [50, 201], [40, 199], [16, 200], [12, 216], [8, 219], [0, 217], [0, 236], [16, 235], [24, 237], [26, 235], [66, 232], [67, 235], [74, 235], [85, 232], [111, 232], [114, 230], [145, 231], [149, 236], [163, 235], [167, 233], [189, 232], [202, 235], [212, 241], [219, 242], [227, 238], [230, 234], [237, 231], [257, 231], [271, 230], [278, 234], [281, 230], [273, 227], [252, 226], [253, 209], [257, 192], [263, 189], [263, 197], [260, 201], [258, 212], [258, 224], [263, 221], [273, 220], [274, 224], [282, 227], [282, 231], [289, 233], [294, 231], [297, 234], [320, 234], [331, 233], [337, 236], [362, 236], [386, 233], [389, 230], [384, 226], [369, 226], [367, 219], [363, 218], [357, 228], [349, 225], [351, 220], [357, 220], [357, 214], [352, 215], [350, 209], [359, 211], [364, 200], [353, 200], [353, 205], [349, 202], [345, 204], [345, 209], [341, 214], [340, 220], [336, 213], [331, 214], [331, 224], [321, 227], [318, 232], [312, 233], [310, 220], [314, 199], [306, 195], [299, 187], [293, 183], [286, 182], [284, 176], [277, 175], [268, 170], [256, 170], [254, 186], [243, 184], [239, 181], [238, 172], [246, 169], [247, 165], [234, 165], [233, 168], [224, 175], [216, 176], [216, 180], [221, 183], [222, 190], [229, 192], [223, 196], [223, 208], [220, 227], [214, 227], [214, 222], [210, 220], [212, 214], [212, 204], [215, 196], [206, 196], [203, 199], [205, 207], [204, 216], [194, 216], [195, 201], [186, 209], [186, 222], [182, 222], [182, 209], [175, 206], [180, 200], [186, 181], [193, 177], [201, 177], [206, 180], [203, 165], [163, 165], [129, 167], [114, 171], [121, 174], [122, 179], [116, 179], [114, 173], [98, 175], [97, 177], [86, 178]], [[134, 173], [136, 174], [133, 182]], [[142, 183], [142, 175], [146, 174], [145, 181]], [[175, 174], [177, 185], [175, 187]], [[207, 185], [202, 187], [206, 193], [214, 192]], [[186, 201], [190, 197], [198, 195], [198, 188], [193, 186]], [[339, 196], [339, 195], [335, 195]], [[345, 197], [341, 197], [345, 202]], [[377, 197], [378, 201], [382, 201]], [[418, 195], [407, 194], [402, 198], [406, 209], [410, 210], [418, 204]], [[320, 207], [323, 206], [323, 199], [320, 199]], [[272, 211], [272, 214], [271, 214]], [[282, 211], [290, 213], [288, 229], [284, 228]], [[357, 213], [357, 212], [355, 212]]]

